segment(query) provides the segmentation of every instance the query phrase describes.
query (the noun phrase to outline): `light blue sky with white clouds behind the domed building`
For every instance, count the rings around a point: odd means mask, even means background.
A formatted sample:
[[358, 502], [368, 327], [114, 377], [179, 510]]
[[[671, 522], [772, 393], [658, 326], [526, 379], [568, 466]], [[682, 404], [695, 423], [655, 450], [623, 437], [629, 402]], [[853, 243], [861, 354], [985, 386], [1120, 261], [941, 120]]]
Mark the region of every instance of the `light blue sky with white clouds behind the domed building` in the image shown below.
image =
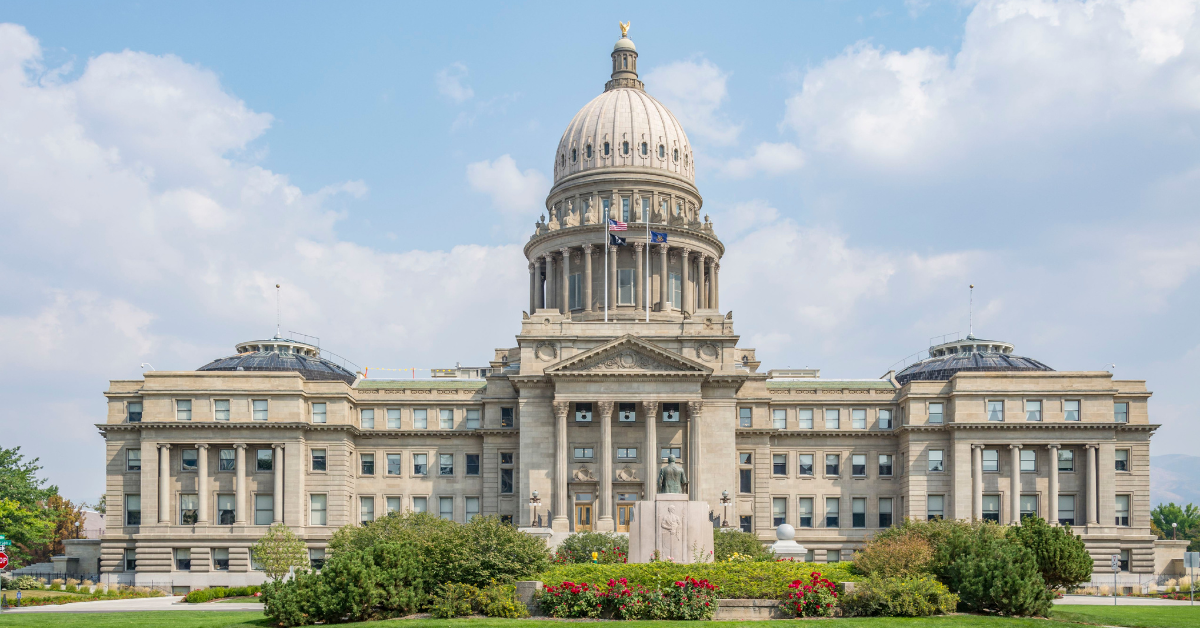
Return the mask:
[[[1200, 445], [1198, 1], [0, 2], [0, 445], [103, 491], [109, 379], [283, 330], [485, 364], [618, 20], [762, 369], [943, 334], [1146, 379]], [[145, 365], [145, 366], [143, 366]]]

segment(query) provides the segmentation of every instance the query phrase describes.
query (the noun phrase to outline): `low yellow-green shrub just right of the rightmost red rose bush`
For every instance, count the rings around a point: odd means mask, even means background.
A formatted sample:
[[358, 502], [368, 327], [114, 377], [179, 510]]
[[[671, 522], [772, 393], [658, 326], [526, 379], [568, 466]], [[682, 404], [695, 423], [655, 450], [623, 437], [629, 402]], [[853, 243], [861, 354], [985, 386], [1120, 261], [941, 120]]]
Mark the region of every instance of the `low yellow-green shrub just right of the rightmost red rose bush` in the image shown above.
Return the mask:
[[858, 617], [928, 617], [954, 612], [958, 604], [959, 597], [931, 575], [871, 576], [841, 598], [842, 612]]

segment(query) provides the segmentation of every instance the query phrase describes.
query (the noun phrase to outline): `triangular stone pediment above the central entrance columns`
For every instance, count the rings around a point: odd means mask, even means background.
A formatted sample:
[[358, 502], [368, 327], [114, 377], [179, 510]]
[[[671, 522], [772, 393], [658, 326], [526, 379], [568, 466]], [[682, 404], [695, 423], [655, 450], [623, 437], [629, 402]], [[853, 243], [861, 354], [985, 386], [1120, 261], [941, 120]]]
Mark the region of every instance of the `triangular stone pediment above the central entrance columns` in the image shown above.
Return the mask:
[[545, 372], [547, 375], [703, 376], [712, 373], [713, 370], [637, 336], [625, 335], [568, 358], [546, 369]]

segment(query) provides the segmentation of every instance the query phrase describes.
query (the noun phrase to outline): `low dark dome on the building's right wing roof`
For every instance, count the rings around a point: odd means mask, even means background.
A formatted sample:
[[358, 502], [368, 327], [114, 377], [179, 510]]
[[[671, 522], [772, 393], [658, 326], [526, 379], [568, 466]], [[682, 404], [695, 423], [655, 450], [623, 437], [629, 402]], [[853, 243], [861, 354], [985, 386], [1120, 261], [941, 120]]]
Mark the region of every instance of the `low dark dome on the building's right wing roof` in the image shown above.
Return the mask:
[[896, 373], [900, 385], [908, 382], [944, 382], [962, 371], [1052, 371], [1033, 358], [1013, 355], [1013, 345], [967, 336], [929, 348], [929, 358]]

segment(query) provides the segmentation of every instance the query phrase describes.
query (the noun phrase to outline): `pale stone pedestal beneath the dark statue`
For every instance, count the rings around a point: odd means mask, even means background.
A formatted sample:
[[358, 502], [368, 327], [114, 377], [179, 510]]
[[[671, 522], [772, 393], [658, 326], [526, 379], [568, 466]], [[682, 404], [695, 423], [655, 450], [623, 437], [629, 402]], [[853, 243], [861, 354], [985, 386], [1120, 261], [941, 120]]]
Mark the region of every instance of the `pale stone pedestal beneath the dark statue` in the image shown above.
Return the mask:
[[653, 502], [637, 502], [629, 522], [629, 562], [648, 563], [655, 550], [662, 561], [712, 562], [708, 512], [708, 502], [689, 502], [680, 494], [659, 494]]

